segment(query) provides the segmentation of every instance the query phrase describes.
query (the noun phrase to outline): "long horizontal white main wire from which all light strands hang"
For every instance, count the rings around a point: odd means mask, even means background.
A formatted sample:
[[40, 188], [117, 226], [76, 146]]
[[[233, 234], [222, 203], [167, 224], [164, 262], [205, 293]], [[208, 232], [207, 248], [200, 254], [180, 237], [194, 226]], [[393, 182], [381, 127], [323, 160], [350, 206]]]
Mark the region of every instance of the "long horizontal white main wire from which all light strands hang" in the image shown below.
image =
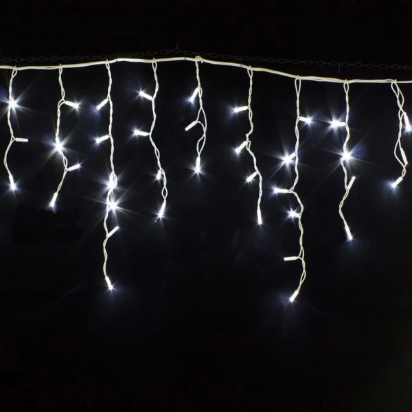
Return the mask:
[[[18, 71], [21, 70], [55, 70], [59, 69], [60, 67], [64, 69], [75, 69], [79, 67], [92, 67], [92, 66], [100, 66], [100, 65], [106, 65], [108, 64], [113, 64], [116, 62], [130, 62], [130, 63], [150, 63], [153, 64], [154, 62], [181, 62], [181, 61], [187, 61], [187, 62], [195, 62], [196, 60], [200, 62], [205, 62], [209, 65], [216, 65], [216, 66], [226, 66], [226, 67], [238, 67], [244, 69], [244, 65], [242, 63], [235, 63], [235, 62], [222, 62], [222, 61], [217, 61], [217, 60], [208, 60], [205, 58], [202, 58], [200, 56], [196, 56], [196, 58], [192, 57], [170, 57], [170, 58], [152, 58], [152, 59], [145, 59], [145, 58], [114, 58], [112, 60], [101, 60], [97, 62], [85, 62], [85, 63], [73, 63], [69, 65], [43, 65], [43, 66], [21, 66], [21, 67], [12, 67], [9, 65], [1, 65], [0, 69], [8, 69], [8, 70], [13, 70], [16, 69]], [[295, 74], [291, 73], [286, 73], [284, 71], [278, 71], [278, 70], [273, 70], [273, 69], [267, 69], [266, 67], [249, 67], [251, 71], [261, 71], [264, 73], [271, 73], [275, 74], [277, 76], [283, 76], [286, 78], [292, 78], [292, 79], [297, 79], [299, 80], [310, 80], [313, 82], [329, 82], [329, 83], [371, 83], [371, 84], [383, 84], [383, 83], [393, 83], [397, 82], [398, 84], [408, 84], [412, 83], [412, 80], [402, 80], [402, 81], [397, 81], [393, 79], [352, 79], [352, 80], [343, 80], [339, 78], [328, 78], [328, 77], [321, 77], [321, 76], [298, 76]]]

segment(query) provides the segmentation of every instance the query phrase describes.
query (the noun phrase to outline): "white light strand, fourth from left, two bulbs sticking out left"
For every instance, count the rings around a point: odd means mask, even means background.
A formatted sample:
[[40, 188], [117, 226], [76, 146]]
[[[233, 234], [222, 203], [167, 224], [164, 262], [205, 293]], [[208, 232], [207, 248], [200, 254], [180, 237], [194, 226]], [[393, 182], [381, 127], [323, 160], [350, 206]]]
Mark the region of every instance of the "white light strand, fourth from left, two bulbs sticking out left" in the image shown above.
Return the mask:
[[164, 213], [165, 213], [165, 209], [166, 209], [166, 201], [168, 198], [168, 181], [166, 179], [166, 174], [165, 171], [163, 170], [163, 168], [161, 167], [161, 162], [160, 162], [160, 151], [157, 148], [155, 141], [153, 140], [153, 130], [155, 129], [155, 125], [156, 125], [156, 119], [157, 119], [157, 114], [156, 114], [156, 97], [157, 97], [157, 93], [159, 91], [159, 80], [157, 78], [157, 62], [155, 59], [152, 60], [152, 69], [153, 69], [153, 76], [155, 77], [155, 83], [156, 83], [156, 87], [155, 87], [155, 93], [151, 96], [148, 95], [147, 93], [145, 93], [144, 91], [141, 91], [139, 93], [139, 95], [142, 98], [148, 99], [150, 100], [150, 102], [152, 102], [152, 115], [153, 115], [153, 120], [152, 120], [152, 126], [150, 126], [150, 132], [141, 132], [140, 130], [135, 130], [135, 135], [140, 135], [140, 136], [148, 136], [150, 143], [152, 144], [153, 150], [155, 151], [155, 157], [157, 160], [157, 180], [160, 180], [161, 177], [163, 177], [163, 187], [161, 190], [161, 196], [163, 198], [163, 203], [161, 204], [161, 207], [159, 209], [159, 213], [157, 214], [157, 216], [159, 218], [163, 218]]

